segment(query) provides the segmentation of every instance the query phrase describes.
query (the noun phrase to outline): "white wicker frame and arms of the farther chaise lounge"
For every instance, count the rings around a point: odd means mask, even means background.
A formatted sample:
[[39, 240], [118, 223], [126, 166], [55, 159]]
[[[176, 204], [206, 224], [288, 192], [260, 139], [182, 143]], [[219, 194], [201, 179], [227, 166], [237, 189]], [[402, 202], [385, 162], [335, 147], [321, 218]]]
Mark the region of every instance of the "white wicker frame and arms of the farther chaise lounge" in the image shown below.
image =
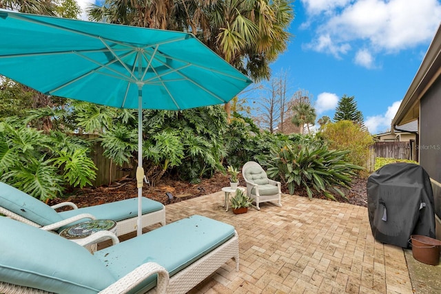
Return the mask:
[[[55, 204], [54, 206], [52, 206], [52, 208], [57, 209], [63, 206], [70, 206], [72, 207], [72, 209], [78, 209], [78, 207], [76, 207], [76, 205], [72, 202], [63, 202], [63, 203]], [[13, 220], [18, 220], [19, 222], [30, 224], [31, 226], [43, 229], [45, 231], [57, 230], [61, 227], [64, 227], [65, 225], [71, 224], [72, 222], [76, 222], [77, 220], [82, 220], [82, 219], [96, 220], [96, 218], [89, 213], [81, 213], [78, 216], [72, 216], [72, 218], [67, 218], [65, 220], [62, 220], [61, 222], [56, 222], [54, 224], [49, 224], [48, 226], [41, 227], [41, 225], [36, 224], [35, 222], [28, 220], [27, 218], [23, 218], [22, 216], [19, 216], [18, 214], [13, 213], [12, 211], [9, 211], [4, 207], [0, 207], [0, 213], [4, 214], [5, 216], [8, 216], [9, 218], [12, 218]], [[136, 229], [138, 228], [137, 220], [138, 220], [138, 216], [134, 216], [133, 218], [127, 218], [125, 220], [120, 220], [119, 222], [116, 222], [116, 235], [120, 236], [136, 231]], [[142, 216], [141, 223], [143, 225], [143, 228], [152, 226], [153, 224], [161, 224], [162, 226], [165, 226], [164, 205], [161, 210], [144, 214]]]

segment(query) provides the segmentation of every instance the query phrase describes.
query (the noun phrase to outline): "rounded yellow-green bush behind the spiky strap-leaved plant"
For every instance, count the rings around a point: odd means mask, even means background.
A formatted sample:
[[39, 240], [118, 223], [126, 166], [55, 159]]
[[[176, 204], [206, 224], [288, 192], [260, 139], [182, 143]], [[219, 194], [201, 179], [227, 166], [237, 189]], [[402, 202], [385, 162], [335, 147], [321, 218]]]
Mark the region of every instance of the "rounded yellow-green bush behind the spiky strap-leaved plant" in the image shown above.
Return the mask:
[[347, 162], [362, 167], [366, 165], [373, 138], [360, 125], [349, 120], [328, 123], [322, 136], [327, 140], [329, 149], [350, 151], [345, 155]]

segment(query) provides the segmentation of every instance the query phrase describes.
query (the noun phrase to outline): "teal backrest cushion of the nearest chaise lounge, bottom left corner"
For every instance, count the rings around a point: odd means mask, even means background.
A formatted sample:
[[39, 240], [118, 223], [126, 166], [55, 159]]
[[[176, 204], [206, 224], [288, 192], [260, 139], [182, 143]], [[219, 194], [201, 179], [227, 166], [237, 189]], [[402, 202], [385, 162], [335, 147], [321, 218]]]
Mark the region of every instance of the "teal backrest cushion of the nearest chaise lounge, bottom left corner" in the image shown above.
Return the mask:
[[116, 282], [90, 252], [59, 235], [0, 217], [0, 281], [54, 293], [98, 293]]

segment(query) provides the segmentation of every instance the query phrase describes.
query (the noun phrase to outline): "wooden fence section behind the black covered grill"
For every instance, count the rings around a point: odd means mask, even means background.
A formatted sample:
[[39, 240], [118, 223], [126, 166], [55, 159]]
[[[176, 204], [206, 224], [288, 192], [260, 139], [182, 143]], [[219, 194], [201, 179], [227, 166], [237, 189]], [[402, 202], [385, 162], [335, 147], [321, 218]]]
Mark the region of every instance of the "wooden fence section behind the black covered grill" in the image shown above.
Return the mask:
[[416, 160], [415, 144], [410, 142], [377, 142], [369, 147], [369, 159], [366, 168], [374, 171], [375, 158], [396, 158]]

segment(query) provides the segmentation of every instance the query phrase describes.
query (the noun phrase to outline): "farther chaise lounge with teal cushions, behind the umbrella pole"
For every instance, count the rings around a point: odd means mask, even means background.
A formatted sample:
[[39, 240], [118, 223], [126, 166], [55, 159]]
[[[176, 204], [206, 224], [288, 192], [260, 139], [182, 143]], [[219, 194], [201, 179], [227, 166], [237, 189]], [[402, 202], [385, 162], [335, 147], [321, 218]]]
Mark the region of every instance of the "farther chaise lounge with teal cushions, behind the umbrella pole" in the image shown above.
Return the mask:
[[[63, 205], [68, 205], [72, 209], [55, 211]], [[158, 223], [165, 225], [165, 207], [161, 202], [144, 197], [142, 211], [143, 227]], [[0, 182], [0, 213], [45, 231], [57, 232], [80, 221], [109, 219], [116, 222], [116, 234], [124, 235], [136, 231], [138, 198], [83, 208], [77, 208], [72, 202], [63, 202], [50, 207], [23, 191]]]

